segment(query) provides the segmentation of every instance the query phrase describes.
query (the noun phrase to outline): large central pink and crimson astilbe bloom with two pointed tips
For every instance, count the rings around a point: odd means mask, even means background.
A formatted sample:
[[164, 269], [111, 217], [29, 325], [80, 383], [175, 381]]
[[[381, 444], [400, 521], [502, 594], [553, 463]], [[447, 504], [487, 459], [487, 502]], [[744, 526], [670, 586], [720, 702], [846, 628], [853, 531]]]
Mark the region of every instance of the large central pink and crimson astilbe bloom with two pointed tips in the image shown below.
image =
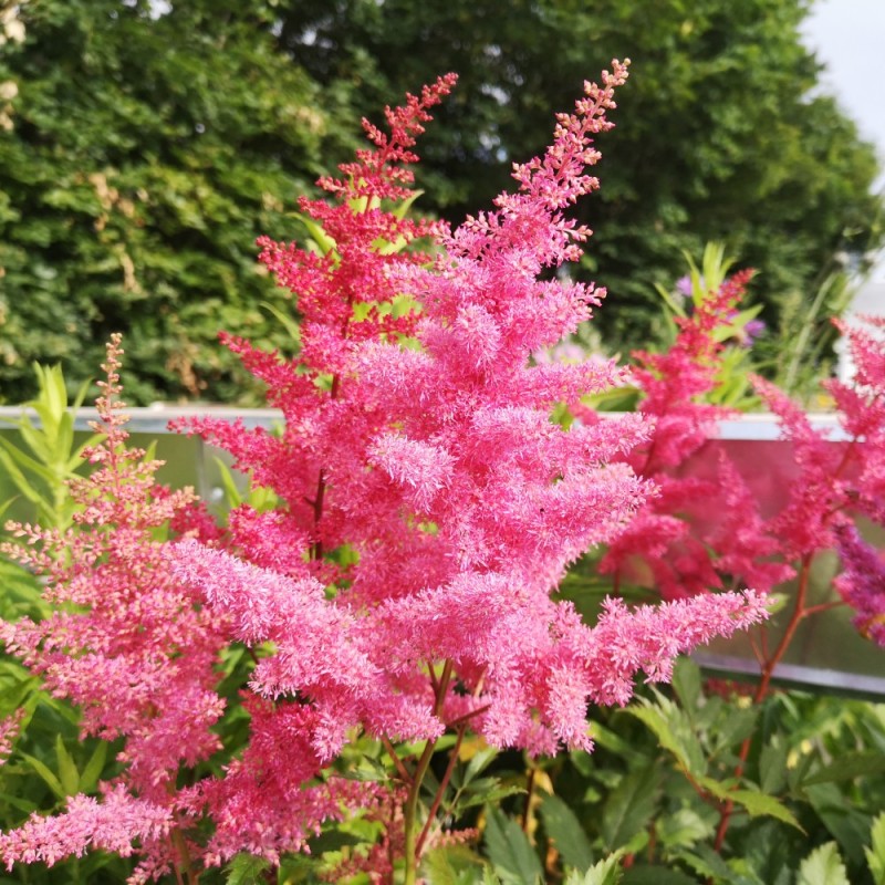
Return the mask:
[[[253, 718], [242, 764], [199, 787], [218, 820], [241, 819], [230, 811], [238, 784], [254, 781], [253, 747], [280, 746], [280, 717], [291, 777], [309, 791], [358, 730], [433, 747], [469, 722], [498, 747], [589, 748], [589, 704], [626, 702], [637, 673], [667, 678], [674, 656], [764, 617], [757, 596], [729, 594], [635, 613], [615, 603], [591, 627], [551, 598], [570, 563], [621, 531], [647, 491], [626, 461], [648, 438], [642, 416], [571, 429], [550, 417], [624, 373], [608, 361], [531, 360], [604, 294], [539, 278], [590, 236], [564, 209], [597, 187], [585, 167], [626, 73], [614, 62], [601, 86], [586, 84], [546, 154], [514, 167], [518, 192], [454, 231], [407, 227], [385, 204], [406, 196], [400, 165], [416, 159], [413, 134], [448, 92], [444, 77], [387, 112], [389, 135], [367, 127], [375, 149], [323, 183], [336, 204], [302, 201], [324, 254], [262, 242], [303, 316], [299, 362], [229, 343], [270, 385], [285, 426], [278, 437], [190, 429], [279, 496], [268, 528], [303, 568], [261, 543], [247, 513], [228, 549], [177, 549], [177, 575], [258, 649], [250, 688], [278, 705]], [[435, 241], [435, 259], [399, 249], [418, 236]], [[412, 310], [397, 315], [404, 299]], [[236, 827], [225, 832], [221, 857], [238, 850]], [[275, 860], [287, 843], [267, 840], [243, 823], [239, 850]], [[419, 852], [391, 840], [391, 851]]]

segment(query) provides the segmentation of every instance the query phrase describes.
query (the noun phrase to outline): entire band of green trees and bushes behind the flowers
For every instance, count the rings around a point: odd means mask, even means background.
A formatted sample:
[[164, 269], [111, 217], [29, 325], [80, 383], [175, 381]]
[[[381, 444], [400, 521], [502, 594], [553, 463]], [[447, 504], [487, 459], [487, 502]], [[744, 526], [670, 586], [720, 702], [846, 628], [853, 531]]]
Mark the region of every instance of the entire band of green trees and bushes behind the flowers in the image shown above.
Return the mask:
[[681, 250], [716, 239], [760, 270], [771, 331], [758, 346], [777, 374], [803, 324], [825, 351], [843, 302], [832, 274], [883, 241], [875, 154], [818, 91], [798, 30], [806, 0], [15, 8], [23, 40], [0, 55], [0, 95], [17, 90], [0, 133], [7, 399], [31, 395], [33, 358], [70, 355], [76, 384], [112, 330], [138, 368], [134, 402], [241, 398], [216, 332], [287, 346], [259, 308], [282, 294], [257, 273], [254, 237], [300, 237], [287, 212], [348, 158], [360, 117], [446, 71], [461, 81], [423, 138], [418, 209], [457, 223], [543, 147], [584, 77], [633, 59], [601, 142], [602, 190], [577, 209], [596, 230], [579, 273], [611, 292], [597, 321], [608, 350], [655, 337], [654, 284], [671, 287]]

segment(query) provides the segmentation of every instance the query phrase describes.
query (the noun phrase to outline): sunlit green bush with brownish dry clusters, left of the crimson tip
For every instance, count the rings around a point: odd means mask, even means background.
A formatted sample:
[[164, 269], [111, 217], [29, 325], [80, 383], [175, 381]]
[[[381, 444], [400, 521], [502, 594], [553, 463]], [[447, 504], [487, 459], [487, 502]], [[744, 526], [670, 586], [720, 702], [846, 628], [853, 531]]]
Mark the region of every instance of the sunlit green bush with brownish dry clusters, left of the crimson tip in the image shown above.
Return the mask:
[[358, 126], [277, 51], [271, 6], [18, 7], [23, 40], [0, 53], [0, 402], [33, 394], [35, 358], [64, 360], [77, 384], [114, 330], [134, 403], [230, 400], [218, 331], [285, 341], [254, 240], [295, 236], [288, 214], [326, 170], [337, 119]]

